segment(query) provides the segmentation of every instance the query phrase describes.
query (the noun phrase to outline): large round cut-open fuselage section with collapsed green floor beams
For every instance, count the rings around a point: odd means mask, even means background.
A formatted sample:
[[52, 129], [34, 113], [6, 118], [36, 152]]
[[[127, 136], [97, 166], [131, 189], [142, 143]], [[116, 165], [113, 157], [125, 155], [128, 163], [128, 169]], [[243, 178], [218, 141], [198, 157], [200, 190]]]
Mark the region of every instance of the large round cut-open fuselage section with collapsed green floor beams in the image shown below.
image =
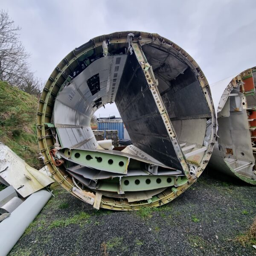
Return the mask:
[[[117, 130], [90, 127], [95, 111], [113, 102], [133, 144], [126, 148]], [[208, 82], [195, 60], [172, 41], [137, 31], [102, 35], [70, 52], [47, 81], [37, 127], [61, 186], [113, 210], [175, 199], [207, 166], [216, 135]]]

